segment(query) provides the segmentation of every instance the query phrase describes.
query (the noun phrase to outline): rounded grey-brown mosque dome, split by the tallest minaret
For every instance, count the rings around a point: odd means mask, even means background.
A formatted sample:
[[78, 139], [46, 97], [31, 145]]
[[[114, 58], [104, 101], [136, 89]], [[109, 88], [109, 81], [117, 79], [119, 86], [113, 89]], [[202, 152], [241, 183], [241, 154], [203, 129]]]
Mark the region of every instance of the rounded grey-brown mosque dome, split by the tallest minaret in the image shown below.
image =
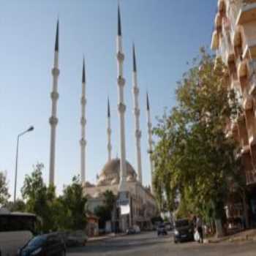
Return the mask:
[[[111, 159], [102, 168], [99, 174], [97, 186], [110, 186], [118, 184], [120, 180], [120, 159]], [[127, 181], [132, 182], [137, 180], [137, 174], [132, 165], [127, 162]]]

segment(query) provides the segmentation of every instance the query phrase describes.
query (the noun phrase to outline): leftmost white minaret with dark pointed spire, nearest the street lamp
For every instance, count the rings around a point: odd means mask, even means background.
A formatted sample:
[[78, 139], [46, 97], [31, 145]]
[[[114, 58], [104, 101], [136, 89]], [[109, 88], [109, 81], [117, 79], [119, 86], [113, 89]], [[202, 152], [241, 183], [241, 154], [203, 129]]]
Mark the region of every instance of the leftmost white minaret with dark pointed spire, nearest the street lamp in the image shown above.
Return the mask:
[[58, 93], [58, 78], [59, 78], [59, 20], [56, 29], [56, 41], [54, 51], [54, 64], [52, 69], [53, 75], [53, 91], [50, 94], [52, 100], [50, 123], [50, 177], [49, 183], [54, 185], [55, 173], [55, 146], [56, 146], [56, 126], [58, 124], [57, 118], [57, 101], [59, 99]]

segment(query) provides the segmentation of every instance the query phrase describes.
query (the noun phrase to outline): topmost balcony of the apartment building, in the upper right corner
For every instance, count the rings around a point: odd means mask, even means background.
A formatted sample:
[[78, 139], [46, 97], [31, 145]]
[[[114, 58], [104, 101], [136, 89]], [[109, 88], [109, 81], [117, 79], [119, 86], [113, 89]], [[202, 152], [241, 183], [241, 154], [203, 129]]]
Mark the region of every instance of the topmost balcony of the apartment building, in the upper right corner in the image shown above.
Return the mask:
[[238, 13], [236, 25], [242, 25], [256, 20], [256, 1], [244, 0]]

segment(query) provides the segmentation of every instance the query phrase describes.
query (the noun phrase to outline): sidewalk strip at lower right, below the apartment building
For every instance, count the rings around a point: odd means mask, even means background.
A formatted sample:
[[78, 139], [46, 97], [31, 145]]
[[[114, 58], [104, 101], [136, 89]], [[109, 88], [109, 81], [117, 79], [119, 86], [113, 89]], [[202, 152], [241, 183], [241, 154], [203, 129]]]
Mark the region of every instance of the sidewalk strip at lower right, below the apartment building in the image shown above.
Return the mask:
[[229, 242], [256, 241], [256, 229], [245, 230], [240, 233], [236, 233], [234, 235], [224, 236], [222, 238], [208, 238], [204, 240], [206, 244], [220, 243], [224, 241], [229, 241]]

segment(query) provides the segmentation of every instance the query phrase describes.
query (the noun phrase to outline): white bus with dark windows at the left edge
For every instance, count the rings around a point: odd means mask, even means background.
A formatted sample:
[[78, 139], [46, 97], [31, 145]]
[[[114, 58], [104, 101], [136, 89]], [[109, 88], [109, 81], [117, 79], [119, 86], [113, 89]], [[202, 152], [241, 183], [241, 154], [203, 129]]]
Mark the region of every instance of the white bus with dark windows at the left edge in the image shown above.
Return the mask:
[[0, 256], [17, 255], [18, 249], [36, 233], [35, 214], [10, 212], [0, 209]]

